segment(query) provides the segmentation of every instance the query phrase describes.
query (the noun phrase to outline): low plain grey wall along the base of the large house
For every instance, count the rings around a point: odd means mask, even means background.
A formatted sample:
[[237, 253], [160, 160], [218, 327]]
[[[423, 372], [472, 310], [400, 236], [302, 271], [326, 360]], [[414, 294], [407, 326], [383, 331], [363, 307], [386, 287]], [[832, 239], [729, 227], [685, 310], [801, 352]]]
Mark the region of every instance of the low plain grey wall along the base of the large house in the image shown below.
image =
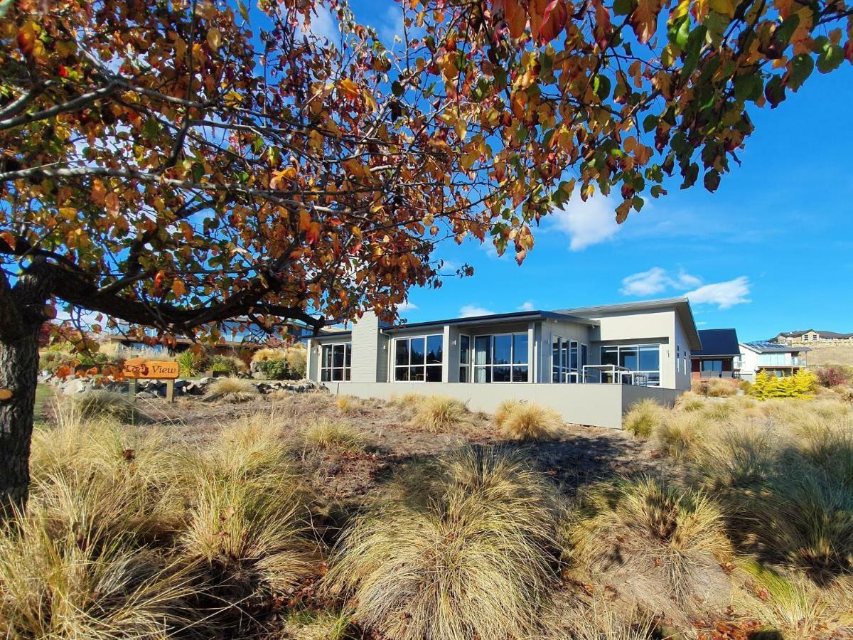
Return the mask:
[[450, 396], [467, 403], [474, 411], [496, 410], [503, 400], [536, 402], [560, 413], [566, 422], [592, 427], [622, 428], [622, 416], [631, 404], [653, 398], [672, 404], [681, 392], [656, 387], [628, 385], [541, 385], [541, 384], [447, 384], [444, 382], [325, 382], [332, 393], [389, 400], [403, 393]]

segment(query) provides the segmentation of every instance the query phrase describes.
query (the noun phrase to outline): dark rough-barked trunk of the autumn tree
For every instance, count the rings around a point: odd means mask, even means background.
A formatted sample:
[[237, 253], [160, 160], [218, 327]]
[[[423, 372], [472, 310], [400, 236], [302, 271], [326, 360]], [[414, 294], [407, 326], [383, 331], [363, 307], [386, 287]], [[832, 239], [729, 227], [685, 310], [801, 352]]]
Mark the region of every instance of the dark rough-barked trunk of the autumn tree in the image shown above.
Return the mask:
[[[40, 326], [40, 325], [39, 325]], [[30, 438], [38, 384], [38, 329], [11, 342], [0, 342], [0, 521], [23, 509], [30, 484]]]

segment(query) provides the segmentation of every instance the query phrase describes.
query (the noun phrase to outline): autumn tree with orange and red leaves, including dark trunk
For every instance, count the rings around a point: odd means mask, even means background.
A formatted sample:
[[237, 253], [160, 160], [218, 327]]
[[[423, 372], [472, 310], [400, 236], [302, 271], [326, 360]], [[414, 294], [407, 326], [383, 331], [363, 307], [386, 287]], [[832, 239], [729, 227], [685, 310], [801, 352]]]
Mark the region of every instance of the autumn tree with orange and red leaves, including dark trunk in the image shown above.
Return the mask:
[[0, 504], [57, 306], [166, 341], [392, 317], [439, 241], [520, 264], [572, 194], [717, 189], [751, 108], [853, 57], [844, 2], [406, 0], [394, 43], [316, 4], [0, 3]]

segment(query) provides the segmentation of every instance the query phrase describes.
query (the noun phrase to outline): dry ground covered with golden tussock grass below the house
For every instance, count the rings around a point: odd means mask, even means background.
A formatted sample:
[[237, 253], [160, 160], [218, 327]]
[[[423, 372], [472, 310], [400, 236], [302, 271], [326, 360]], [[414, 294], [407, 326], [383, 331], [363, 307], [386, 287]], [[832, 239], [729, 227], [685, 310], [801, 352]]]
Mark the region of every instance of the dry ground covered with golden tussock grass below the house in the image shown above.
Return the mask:
[[832, 392], [688, 394], [635, 434], [417, 395], [154, 400], [138, 426], [112, 400], [37, 430], [29, 513], [0, 532], [9, 637], [853, 634]]

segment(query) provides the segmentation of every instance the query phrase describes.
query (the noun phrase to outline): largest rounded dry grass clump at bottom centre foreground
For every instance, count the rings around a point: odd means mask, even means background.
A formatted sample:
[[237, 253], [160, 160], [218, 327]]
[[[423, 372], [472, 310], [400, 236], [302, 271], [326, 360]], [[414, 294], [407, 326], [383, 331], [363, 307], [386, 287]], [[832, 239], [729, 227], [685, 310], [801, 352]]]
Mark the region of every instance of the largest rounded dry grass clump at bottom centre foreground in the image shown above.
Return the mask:
[[355, 620], [384, 637], [529, 637], [558, 580], [553, 487], [490, 449], [407, 476], [345, 532], [328, 590], [350, 596]]

